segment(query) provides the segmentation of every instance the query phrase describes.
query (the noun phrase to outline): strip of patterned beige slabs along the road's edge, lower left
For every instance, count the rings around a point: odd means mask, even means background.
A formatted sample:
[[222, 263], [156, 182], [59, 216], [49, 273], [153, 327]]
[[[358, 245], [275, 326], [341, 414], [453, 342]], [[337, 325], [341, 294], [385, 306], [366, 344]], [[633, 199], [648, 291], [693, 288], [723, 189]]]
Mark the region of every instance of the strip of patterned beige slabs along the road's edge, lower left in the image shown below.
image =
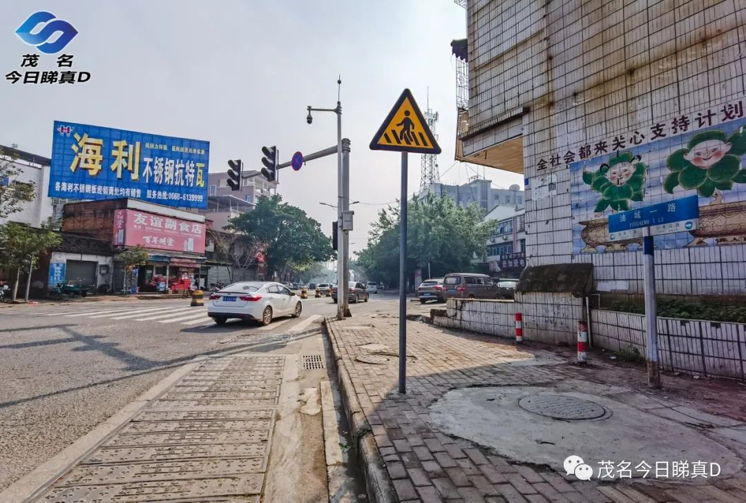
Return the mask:
[[259, 502], [283, 356], [209, 358], [35, 502]]

